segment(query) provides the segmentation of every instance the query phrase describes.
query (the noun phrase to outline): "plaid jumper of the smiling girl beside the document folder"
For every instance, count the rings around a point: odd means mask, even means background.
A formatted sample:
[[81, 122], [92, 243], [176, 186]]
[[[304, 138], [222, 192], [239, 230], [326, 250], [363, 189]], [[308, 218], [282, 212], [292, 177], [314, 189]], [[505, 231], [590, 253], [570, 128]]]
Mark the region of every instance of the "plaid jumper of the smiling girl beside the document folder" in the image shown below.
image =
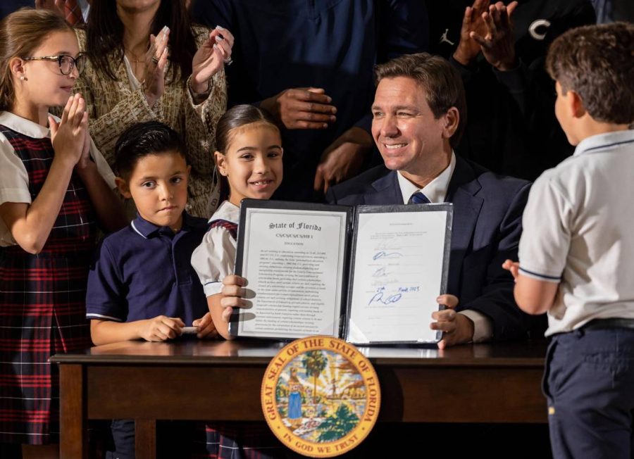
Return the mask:
[[[222, 227], [235, 240], [237, 224], [228, 220], [212, 220], [211, 228]], [[230, 388], [228, 388], [230, 390]], [[205, 426], [206, 454], [194, 455], [207, 459], [268, 459], [287, 453], [271, 433], [266, 422], [213, 422]]]

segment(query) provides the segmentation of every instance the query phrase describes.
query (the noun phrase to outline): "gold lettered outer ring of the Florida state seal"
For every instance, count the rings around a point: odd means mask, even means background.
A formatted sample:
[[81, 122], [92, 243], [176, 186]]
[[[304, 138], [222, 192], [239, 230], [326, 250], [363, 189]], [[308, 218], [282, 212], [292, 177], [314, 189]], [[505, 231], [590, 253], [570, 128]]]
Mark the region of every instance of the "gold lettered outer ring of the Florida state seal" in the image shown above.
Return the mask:
[[[366, 410], [359, 424], [342, 439], [324, 443], [307, 441], [294, 435], [282, 422], [275, 401], [275, 388], [286, 365], [305, 352], [318, 350], [335, 352], [348, 360], [366, 384]], [[371, 432], [378, 418], [381, 391], [374, 367], [359, 349], [342, 339], [314, 336], [292, 341], [273, 357], [262, 379], [260, 399], [268, 427], [284, 446], [311, 458], [332, 458], [351, 451]]]

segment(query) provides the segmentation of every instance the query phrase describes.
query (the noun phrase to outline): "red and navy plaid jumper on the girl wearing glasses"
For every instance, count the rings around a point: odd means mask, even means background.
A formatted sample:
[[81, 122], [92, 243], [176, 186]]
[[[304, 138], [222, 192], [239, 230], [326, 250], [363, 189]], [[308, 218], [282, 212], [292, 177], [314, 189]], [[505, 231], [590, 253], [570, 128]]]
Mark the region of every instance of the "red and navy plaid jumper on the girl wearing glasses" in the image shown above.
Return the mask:
[[[0, 126], [29, 177], [32, 201], [49, 175], [51, 139]], [[54, 353], [91, 346], [86, 283], [97, 225], [73, 172], [42, 252], [0, 248], [0, 442], [59, 442], [59, 380]]]

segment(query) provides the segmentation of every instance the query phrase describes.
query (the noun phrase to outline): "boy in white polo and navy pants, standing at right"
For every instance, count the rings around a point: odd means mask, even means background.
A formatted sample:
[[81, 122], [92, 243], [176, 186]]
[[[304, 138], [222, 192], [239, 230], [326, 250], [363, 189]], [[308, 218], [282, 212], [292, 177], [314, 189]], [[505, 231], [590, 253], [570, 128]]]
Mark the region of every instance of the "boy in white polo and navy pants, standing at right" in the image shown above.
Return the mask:
[[515, 298], [548, 312], [544, 392], [555, 458], [633, 458], [634, 25], [579, 27], [549, 49], [571, 158], [523, 214]]

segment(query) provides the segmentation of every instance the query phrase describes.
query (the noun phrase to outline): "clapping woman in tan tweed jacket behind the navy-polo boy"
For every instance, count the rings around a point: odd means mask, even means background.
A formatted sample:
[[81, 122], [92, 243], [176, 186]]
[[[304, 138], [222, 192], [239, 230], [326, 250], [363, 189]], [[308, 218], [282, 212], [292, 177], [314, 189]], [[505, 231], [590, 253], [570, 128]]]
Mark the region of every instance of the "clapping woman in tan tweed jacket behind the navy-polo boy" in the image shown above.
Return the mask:
[[90, 134], [106, 161], [112, 165], [130, 125], [166, 123], [187, 145], [189, 213], [209, 217], [218, 205], [213, 139], [227, 105], [232, 34], [189, 23], [185, 0], [93, 0], [77, 37], [89, 61], [75, 91], [86, 99]]

